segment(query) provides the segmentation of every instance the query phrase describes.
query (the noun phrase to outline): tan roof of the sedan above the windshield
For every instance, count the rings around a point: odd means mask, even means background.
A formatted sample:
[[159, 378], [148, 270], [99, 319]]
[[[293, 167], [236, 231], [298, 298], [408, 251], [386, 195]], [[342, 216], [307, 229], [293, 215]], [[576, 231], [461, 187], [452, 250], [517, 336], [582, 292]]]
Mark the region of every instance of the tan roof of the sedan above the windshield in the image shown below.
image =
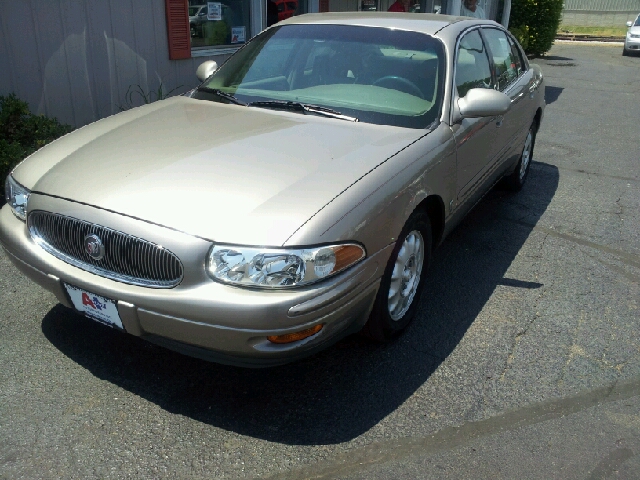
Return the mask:
[[[292, 24], [332, 24], [357, 25], [365, 27], [399, 28], [434, 35], [439, 30], [454, 23], [465, 21], [472, 24], [469, 17], [454, 17], [430, 13], [391, 13], [391, 12], [336, 12], [308, 13], [284, 20], [278, 25]], [[478, 22], [478, 23], [486, 23]]]

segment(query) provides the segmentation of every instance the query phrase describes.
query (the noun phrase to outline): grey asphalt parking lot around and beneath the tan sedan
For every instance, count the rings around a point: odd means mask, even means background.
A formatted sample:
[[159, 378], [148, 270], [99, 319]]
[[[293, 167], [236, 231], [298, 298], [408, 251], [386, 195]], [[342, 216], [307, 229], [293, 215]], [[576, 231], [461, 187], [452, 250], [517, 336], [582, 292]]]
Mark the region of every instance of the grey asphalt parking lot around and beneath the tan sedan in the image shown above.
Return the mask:
[[0, 251], [2, 478], [637, 478], [640, 57], [562, 43], [518, 194], [435, 254], [419, 319], [264, 370], [57, 305]]

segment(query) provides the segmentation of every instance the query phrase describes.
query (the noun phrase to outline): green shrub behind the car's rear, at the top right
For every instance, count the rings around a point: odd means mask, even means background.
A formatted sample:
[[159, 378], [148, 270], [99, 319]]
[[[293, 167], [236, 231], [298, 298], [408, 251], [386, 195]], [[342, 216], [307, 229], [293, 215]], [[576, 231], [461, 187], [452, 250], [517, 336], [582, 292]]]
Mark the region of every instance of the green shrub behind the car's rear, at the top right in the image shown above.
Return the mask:
[[513, 0], [510, 30], [528, 54], [549, 51], [560, 25], [562, 4], [563, 0]]

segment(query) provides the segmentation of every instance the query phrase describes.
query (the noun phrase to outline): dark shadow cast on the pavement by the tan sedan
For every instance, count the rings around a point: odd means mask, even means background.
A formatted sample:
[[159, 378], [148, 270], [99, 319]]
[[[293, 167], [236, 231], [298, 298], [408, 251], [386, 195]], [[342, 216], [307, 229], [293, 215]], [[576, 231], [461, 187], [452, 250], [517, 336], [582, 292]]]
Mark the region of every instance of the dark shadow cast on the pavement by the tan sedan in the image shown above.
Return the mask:
[[455, 349], [545, 212], [558, 170], [534, 162], [518, 194], [490, 192], [436, 251], [419, 318], [388, 345], [349, 337], [294, 364], [247, 370], [207, 363], [121, 334], [58, 305], [49, 341], [95, 376], [163, 409], [271, 442], [349, 441], [419, 389]]

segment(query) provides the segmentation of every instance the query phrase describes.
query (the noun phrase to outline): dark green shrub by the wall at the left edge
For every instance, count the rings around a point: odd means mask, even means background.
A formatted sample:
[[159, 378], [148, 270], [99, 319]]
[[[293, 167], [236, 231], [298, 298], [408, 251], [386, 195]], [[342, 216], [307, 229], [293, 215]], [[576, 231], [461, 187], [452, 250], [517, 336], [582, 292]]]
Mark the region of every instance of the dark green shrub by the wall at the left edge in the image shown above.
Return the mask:
[[0, 95], [0, 197], [4, 197], [4, 180], [13, 167], [71, 130], [55, 118], [32, 114], [27, 103], [14, 94]]

